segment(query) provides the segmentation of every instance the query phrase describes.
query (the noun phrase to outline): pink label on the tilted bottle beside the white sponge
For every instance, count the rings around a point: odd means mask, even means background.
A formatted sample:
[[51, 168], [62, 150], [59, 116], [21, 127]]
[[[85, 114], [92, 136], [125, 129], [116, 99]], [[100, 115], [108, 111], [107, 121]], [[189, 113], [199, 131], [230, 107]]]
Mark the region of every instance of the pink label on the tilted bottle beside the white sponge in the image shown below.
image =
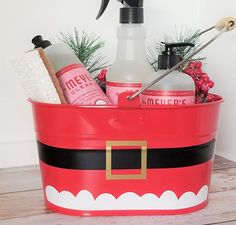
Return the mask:
[[72, 105], [111, 104], [83, 65], [69, 65], [56, 75], [68, 103]]

